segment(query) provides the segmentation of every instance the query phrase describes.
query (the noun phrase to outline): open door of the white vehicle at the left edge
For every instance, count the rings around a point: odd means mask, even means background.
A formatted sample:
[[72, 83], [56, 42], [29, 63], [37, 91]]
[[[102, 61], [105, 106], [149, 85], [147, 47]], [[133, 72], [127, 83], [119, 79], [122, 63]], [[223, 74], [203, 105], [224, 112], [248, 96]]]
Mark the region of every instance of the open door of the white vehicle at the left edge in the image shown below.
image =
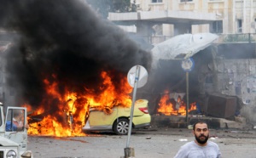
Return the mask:
[[[15, 114], [20, 112], [20, 119], [15, 118]], [[15, 121], [19, 121], [19, 127], [15, 128]], [[27, 132], [26, 132], [26, 108], [8, 107], [5, 116], [5, 138], [9, 138], [19, 145], [21, 152], [27, 148]]]

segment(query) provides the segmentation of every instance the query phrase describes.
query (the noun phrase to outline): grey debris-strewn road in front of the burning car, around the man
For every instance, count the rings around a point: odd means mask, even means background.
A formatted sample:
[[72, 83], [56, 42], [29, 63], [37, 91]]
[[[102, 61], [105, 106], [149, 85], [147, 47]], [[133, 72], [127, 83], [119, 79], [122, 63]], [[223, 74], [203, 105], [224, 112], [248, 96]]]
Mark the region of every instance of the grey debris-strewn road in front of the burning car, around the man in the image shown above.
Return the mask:
[[[224, 158], [256, 158], [256, 130], [210, 129]], [[86, 137], [55, 138], [29, 136], [28, 150], [35, 158], [120, 158], [125, 155], [127, 136], [92, 133]], [[158, 128], [134, 131], [130, 146], [137, 158], [173, 157], [179, 147], [194, 140], [185, 128]]]

